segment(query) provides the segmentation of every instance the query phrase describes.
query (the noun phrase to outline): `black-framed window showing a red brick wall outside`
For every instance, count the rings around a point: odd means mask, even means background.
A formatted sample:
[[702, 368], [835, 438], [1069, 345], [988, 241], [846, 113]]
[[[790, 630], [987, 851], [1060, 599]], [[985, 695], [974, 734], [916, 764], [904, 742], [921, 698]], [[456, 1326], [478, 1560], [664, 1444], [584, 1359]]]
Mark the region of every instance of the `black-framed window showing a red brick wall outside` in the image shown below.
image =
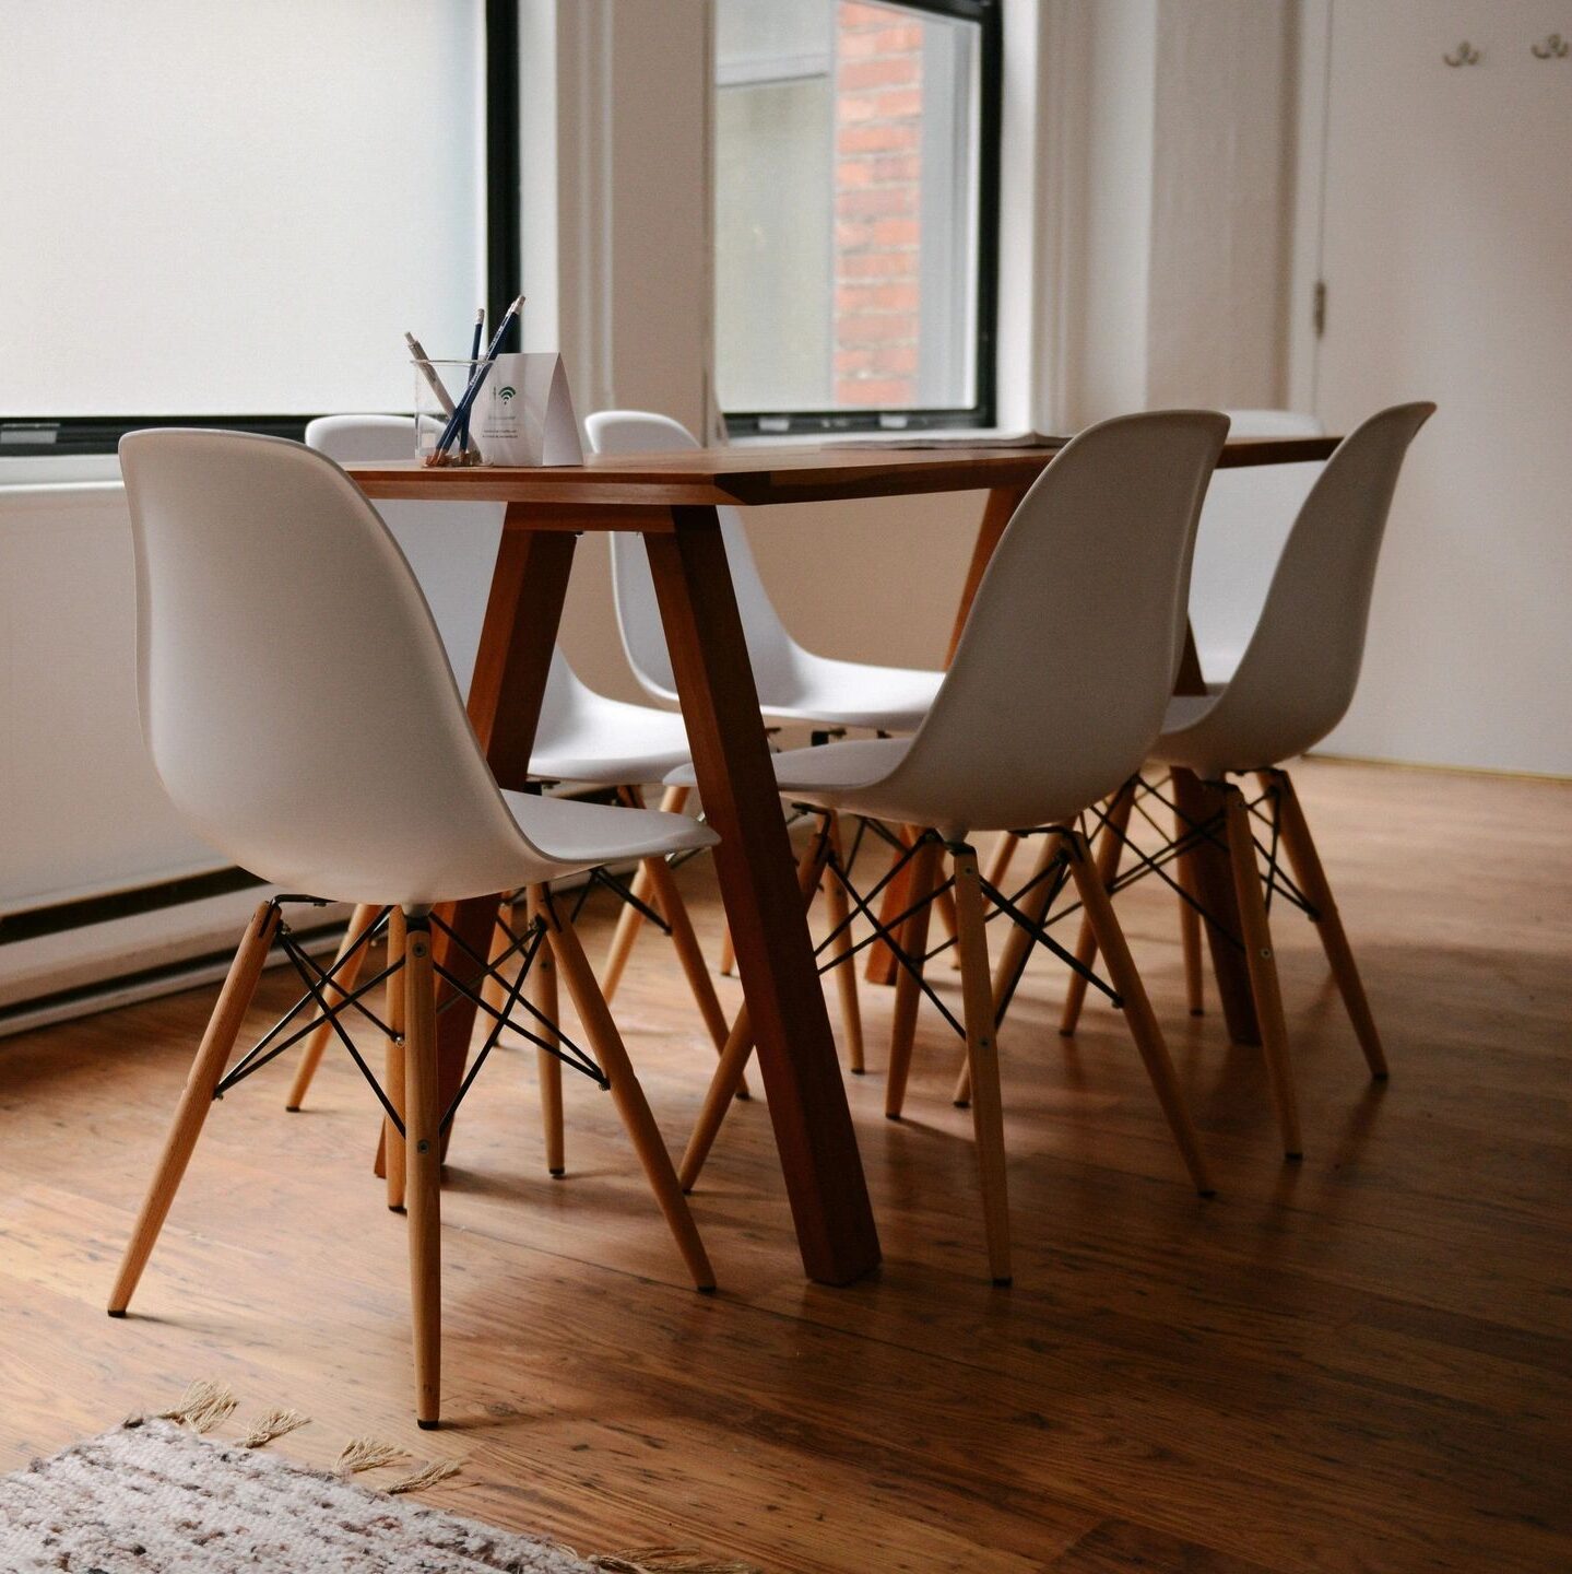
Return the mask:
[[996, 0], [718, 0], [733, 433], [994, 419]]

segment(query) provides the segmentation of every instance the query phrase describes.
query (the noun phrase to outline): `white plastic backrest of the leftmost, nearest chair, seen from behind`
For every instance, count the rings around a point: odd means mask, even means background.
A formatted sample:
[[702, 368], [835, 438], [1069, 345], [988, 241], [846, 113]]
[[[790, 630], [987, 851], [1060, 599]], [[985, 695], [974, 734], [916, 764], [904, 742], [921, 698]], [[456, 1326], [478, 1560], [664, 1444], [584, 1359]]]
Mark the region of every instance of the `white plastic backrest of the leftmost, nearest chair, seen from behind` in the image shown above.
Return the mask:
[[[297, 442], [121, 439], [142, 726], [175, 806], [236, 863], [319, 896], [491, 889], [521, 837], [393, 537]], [[493, 875], [494, 878], [494, 875]], [[357, 883], [360, 881], [360, 883]]]

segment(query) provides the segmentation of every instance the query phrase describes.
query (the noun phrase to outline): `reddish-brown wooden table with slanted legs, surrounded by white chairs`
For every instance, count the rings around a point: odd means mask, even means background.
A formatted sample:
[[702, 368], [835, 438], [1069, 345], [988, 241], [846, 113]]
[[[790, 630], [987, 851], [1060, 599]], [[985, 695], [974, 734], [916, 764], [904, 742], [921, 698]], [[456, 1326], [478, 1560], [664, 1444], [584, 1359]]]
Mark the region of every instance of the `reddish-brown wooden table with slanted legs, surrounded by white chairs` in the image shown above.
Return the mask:
[[[1331, 447], [1330, 439], [1234, 442], [1223, 464], [1319, 460]], [[529, 779], [578, 537], [585, 530], [644, 535], [700, 798], [721, 836], [714, 850], [721, 896], [757, 1034], [803, 1265], [820, 1283], [847, 1284], [870, 1272], [880, 1259], [878, 1234], [796, 894], [716, 508], [987, 490], [990, 501], [961, 601], [965, 619], [1010, 512], [1054, 452], [1056, 445], [741, 447], [596, 455], [571, 469], [425, 469], [414, 460], [348, 466], [368, 497], [507, 504], [469, 691], [470, 721], [504, 787], [519, 789]], [[790, 516], [774, 523], [790, 527]], [[1224, 859], [1220, 888], [1226, 870]], [[486, 954], [494, 900], [456, 903], [444, 918], [470, 949]], [[478, 979], [458, 944], [436, 949], [445, 968]], [[1213, 960], [1227, 1001], [1240, 982], [1227, 970], [1240, 970], [1221, 948], [1213, 949]], [[1248, 981], [1243, 999], [1248, 1009]], [[1231, 1026], [1237, 1009], [1235, 1001]], [[439, 1018], [444, 1103], [463, 1080], [472, 1028], [474, 1007], [463, 998]]]

